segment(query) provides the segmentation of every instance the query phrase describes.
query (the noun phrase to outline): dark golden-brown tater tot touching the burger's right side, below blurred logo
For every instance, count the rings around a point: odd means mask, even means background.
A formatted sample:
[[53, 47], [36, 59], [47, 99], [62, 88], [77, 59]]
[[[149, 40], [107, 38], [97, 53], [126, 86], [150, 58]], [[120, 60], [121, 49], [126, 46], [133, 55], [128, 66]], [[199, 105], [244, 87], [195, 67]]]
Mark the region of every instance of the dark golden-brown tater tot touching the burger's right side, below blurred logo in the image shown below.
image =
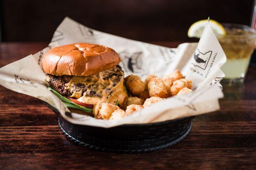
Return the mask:
[[136, 75], [127, 76], [125, 78], [125, 84], [128, 91], [134, 96], [139, 96], [143, 91], [145, 91], [144, 82]]

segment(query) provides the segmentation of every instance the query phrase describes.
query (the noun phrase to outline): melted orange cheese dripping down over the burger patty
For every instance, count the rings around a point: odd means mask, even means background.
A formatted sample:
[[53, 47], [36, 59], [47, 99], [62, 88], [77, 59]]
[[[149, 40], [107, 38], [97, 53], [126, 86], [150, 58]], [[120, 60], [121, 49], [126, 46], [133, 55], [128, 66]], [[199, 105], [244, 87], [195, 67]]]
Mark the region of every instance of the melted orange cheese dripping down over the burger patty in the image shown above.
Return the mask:
[[65, 84], [65, 87], [71, 91], [70, 97], [78, 98], [79, 102], [94, 105], [93, 113], [96, 118], [100, 103], [115, 105], [118, 100], [122, 105], [127, 97], [124, 90], [124, 73], [117, 67], [90, 76], [74, 76]]

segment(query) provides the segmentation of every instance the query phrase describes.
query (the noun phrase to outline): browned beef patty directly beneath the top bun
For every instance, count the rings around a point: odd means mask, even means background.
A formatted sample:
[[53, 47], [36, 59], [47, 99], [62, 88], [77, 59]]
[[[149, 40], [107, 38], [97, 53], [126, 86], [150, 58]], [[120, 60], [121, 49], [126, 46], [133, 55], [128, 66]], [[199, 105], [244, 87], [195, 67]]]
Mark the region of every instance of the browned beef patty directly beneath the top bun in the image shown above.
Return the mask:
[[79, 98], [82, 95], [102, 97], [103, 93], [111, 95], [112, 88], [124, 79], [120, 66], [90, 76], [55, 76], [47, 74], [46, 81], [51, 88], [62, 96]]

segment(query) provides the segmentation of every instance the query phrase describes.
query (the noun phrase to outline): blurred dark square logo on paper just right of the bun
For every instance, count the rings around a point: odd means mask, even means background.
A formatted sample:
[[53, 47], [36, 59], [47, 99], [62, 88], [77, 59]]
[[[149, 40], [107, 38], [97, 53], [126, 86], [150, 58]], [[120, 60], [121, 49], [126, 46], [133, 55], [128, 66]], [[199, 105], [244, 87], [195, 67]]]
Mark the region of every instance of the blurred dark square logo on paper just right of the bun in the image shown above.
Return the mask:
[[143, 72], [142, 68], [142, 52], [127, 52], [122, 51], [119, 53], [122, 57], [122, 68], [124, 68], [124, 71], [126, 72], [132, 72], [132, 73], [141, 73]]

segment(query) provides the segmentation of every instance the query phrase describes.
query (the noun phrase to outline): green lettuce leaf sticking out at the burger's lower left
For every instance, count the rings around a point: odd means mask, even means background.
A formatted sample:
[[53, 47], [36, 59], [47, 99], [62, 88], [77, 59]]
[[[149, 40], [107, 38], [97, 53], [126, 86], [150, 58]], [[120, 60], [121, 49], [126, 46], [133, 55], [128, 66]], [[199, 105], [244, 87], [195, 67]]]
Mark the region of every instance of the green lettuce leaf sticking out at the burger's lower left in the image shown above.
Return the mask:
[[92, 113], [91, 108], [86, 108], [84, 106], [77, 105], [76, 103], [70, 101], [66, 97], [63, 97], [61, 94], [59, 94], [57, 91], [53, 90], [51, 87], [48, 87], [48, 90], [53, 92], [53, 94], [55, 94], [59, 99], [61, 99], [61, 101], [64, 102], [64, 104], [68, 108], [75, 108], [75, 109], [79, 109], [79, 110], [84, 111], [84, 112]]

